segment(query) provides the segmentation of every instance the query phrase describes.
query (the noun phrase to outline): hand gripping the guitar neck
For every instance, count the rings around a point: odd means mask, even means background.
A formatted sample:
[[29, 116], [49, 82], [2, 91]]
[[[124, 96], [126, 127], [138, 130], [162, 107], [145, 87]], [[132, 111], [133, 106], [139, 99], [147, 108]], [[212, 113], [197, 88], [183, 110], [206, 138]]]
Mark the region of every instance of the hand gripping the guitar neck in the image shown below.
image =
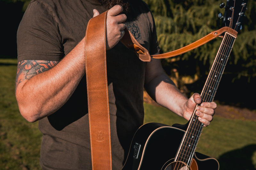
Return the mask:
[[[187, 101], [185, 109], [183, 111], [183, 117], [187, 120], [190, 119], [194, 108], [197, 104], [202, 102], [201, 96], [198, 93], [194, 93]], [[216, 109], [217, 104], [215, 102], [203, 102], [196, 107], [196, 115], [198, 120], [204, 123], [204, 126], [208, 126], [213, 119], [214, 109]]]

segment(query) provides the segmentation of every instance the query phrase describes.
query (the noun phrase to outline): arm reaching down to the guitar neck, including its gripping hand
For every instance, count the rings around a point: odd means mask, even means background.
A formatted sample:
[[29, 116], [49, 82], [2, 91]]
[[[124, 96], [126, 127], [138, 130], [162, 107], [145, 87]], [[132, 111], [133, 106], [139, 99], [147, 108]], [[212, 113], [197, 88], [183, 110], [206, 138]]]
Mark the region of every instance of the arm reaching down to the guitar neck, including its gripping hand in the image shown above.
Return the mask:
[[194, 93], [189, 99], [175, 86], [165, 74], [159, 59], [152, 59], [147, 63], [145, 75], [145, 89], [150, 97], [158, 104], [189, 120], [194, 108], [196, 115], [204, 126], [208, 126], [213, 119], [215, 102], [202, 102], [201, 96]]

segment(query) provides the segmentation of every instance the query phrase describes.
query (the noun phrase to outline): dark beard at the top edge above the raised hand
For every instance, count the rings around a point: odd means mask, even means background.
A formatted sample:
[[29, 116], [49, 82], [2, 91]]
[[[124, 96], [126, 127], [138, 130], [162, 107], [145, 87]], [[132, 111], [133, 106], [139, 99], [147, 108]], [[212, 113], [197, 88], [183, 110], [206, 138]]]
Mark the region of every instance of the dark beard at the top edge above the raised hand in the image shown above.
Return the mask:
[[99, 0], [99, 2], [109, 10], [115, 5], [121, 5], [124, 9], [122, 13], [127, 14], [130, 11], [130, 3], [129, 0]]

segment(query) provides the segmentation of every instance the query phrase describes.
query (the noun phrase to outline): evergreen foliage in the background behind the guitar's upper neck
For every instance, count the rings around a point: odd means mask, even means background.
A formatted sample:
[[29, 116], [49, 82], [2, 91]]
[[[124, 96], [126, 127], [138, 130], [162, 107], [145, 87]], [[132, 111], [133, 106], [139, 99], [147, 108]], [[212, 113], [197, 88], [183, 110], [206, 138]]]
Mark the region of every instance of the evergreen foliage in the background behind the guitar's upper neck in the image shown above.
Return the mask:
[[[222, 20], [219, 13], [224, 13], [219, 5], [225, 3], [220, 0], [144, 0], [150, 7], [155, 18], [159, 45], [163, 52], [169, 52], [188, 45], [208, 33], [221, 28]], [[230, 67], [224, 71], [237, 75], [235, 78], [247, 77], [248, 81], [256, 78], [256, 32], [253, 18], [256, 12], [256, 2], [249, 0], [243, 20], [243, 29], [239, 31], [237, 40], [230, 55]], [[167, 74], [172, 76], [170, 67], [178, 70], [180, 77], [208, 74], [208, 70], [215, 58], [220, 45], [220, 39], [175, 57], [164, 59], [163, 65]], [[181, 64], [195, 63], [199, 68], [189, 67], [183, 71]], [[194, 60], [194, 61], [193, 61]], [[175, 63], [175, 62], [176, 63]], [[178, 61], [178, 62], [177, 62]], [[174, 62], [174, 63], [173, 63]], [[205, 67], [206, 65], [206, 67]], [[198, 71], [199, 70], [199, 71]], [[233, 75], [232, 75], [233, 76]], [[195, 76], [194, 76], [195, 77]], [[194, 79], [194, 82], [198, 79]], [[186, 82], [183, 82], [186, 84]]]

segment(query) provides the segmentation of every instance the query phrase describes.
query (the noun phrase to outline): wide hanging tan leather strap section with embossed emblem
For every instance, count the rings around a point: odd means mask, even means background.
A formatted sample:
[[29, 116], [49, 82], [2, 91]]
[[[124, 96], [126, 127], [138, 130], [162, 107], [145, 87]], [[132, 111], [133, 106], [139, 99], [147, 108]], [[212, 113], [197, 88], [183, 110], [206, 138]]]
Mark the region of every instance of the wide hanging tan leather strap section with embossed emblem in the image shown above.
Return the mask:
[[106, 66], [107, 12], [88, 22], [85, 34], [85, 66], [92, 169], [111, 169], [111, 142]]

